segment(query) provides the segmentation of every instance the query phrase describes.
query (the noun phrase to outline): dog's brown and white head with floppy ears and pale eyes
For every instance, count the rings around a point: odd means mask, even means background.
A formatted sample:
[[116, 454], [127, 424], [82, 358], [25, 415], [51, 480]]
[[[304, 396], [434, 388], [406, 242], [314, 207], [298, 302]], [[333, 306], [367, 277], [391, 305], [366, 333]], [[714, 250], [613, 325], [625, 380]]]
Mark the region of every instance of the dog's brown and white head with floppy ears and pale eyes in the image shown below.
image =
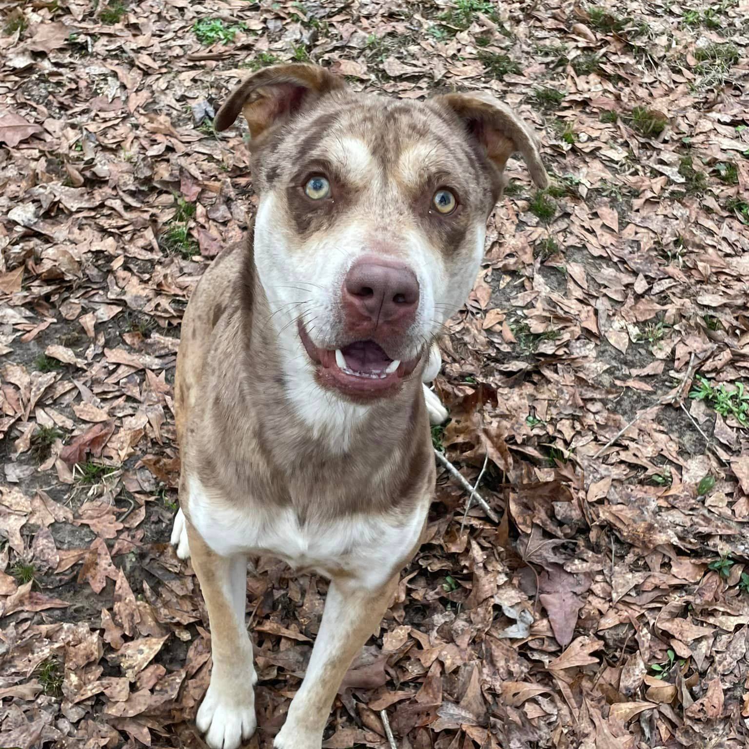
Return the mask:
[[272, 324], [321, 385], [355, 401], [397, 392], [470, 292], [509, 156], [546, 186], [533, 133], [485, 94], [357, 94], [307, 64], [249, 76], [216, 130], [240, 111]]

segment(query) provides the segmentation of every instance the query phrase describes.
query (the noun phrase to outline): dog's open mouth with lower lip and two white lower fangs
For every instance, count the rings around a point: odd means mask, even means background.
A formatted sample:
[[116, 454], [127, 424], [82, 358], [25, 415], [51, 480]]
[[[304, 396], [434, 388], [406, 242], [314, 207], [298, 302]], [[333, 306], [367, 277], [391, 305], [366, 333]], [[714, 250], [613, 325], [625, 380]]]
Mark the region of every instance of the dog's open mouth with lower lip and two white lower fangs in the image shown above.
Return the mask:
[[413, 372], [421, 358], [419, 354], [408, 361], [391, 359], [371, 339], [354, 341], [343, 348], [319, 348], [312, 342], [301, 321], [299, 336], [309, 358], [319, 365], [321, 383], [348, 395], [387, 395]]

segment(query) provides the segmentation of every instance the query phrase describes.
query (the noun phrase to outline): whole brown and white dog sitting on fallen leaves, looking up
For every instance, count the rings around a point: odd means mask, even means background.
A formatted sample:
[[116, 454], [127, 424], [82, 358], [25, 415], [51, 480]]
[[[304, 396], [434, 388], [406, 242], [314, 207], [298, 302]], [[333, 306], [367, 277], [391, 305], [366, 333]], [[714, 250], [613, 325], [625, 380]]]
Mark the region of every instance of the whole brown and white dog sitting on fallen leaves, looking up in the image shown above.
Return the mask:
[[320, 749], [336, 691], [419, 546], [434, 489], [422, 386], [436, 336], [479, 270], [515, 151], [536, 140], [485, 94], [416, 102], [350, 91], [321, 67], [270, 67], [216, 115], [243, 112], [259, 195], [246, 246], [192, 294], [176, 391], [181, 509], [213, 672], [197, 715], [214, 749], [255, 730], [247, 557], [330, 578], [306, 677], [277, 749]]

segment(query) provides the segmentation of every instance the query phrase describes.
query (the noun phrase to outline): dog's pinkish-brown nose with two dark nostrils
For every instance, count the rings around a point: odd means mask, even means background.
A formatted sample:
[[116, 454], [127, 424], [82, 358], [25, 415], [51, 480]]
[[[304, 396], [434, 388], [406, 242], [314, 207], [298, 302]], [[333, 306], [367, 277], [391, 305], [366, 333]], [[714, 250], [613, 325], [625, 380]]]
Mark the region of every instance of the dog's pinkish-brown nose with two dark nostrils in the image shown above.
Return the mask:
[[346, 275], [343, 300], [351, 322], [405, 327], [416, 315], [419, 282], [407, 265], [364, 257]]

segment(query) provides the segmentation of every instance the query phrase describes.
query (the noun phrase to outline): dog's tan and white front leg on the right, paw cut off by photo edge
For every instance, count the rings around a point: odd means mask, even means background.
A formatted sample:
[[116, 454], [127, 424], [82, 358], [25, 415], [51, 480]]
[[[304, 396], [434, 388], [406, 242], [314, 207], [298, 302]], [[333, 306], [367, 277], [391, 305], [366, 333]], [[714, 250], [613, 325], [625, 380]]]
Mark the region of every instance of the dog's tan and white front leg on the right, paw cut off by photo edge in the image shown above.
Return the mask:
[[307, 673], [273, 743], [276, 749], [321, 749], [323, 731], [343, 677], [380, 624], [397, 583], [395, 574], [381, 588], [368, 591], [356, 578], [331, 580]]

